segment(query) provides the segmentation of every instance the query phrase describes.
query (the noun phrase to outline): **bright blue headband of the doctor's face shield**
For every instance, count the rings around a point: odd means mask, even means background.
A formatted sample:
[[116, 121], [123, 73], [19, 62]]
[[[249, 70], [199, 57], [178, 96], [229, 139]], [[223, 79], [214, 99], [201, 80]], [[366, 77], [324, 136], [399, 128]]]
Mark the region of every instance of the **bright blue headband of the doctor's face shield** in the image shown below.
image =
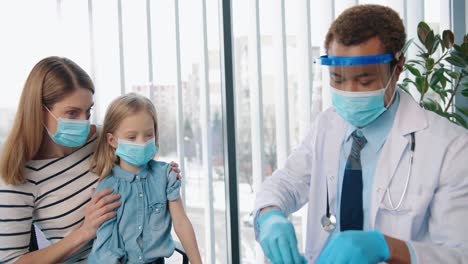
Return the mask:
[[325, 66], [356, 66], [369, 64], [387, 64], [395, 59], [392, 53], [366, 56], [329, 56], [324, 55], [314, 63]]

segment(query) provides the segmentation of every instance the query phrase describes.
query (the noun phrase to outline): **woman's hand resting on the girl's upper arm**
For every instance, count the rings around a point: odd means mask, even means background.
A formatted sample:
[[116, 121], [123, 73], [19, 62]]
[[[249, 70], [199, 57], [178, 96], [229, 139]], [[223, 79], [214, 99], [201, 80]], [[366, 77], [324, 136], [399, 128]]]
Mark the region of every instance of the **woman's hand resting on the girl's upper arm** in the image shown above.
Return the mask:
[[[92, 188], [91, 191], [94, 193], [94, 190]], [[114, 209], [121, 205], [121, 202], [117, 201], [120, 194], [112, 194], [112, 191], [104, 189], [97, 192], [86, 205], [85, 220], [80, 227], [85, 240], [95, 238], [101, 224], [117, 215]]]

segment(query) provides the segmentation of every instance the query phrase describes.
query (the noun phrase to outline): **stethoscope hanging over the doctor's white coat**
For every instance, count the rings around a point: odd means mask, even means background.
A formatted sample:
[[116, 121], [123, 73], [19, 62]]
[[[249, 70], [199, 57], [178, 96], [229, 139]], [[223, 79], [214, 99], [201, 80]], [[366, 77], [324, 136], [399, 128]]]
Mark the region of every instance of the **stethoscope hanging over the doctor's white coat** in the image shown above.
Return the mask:
[[[390, 190], [387, 187], [386, 193], [387, 193], [387, 199], [388, 203], [390, 204], [390, 207], [385, 206], [385, 209], [389, 211], [397, 211], [400, 209], [401, 204], [403, 203], [403, 200], [405, 199], [406, 192], [408, 190], [408, 184], [409, 184], [409, 179], [411, 176], [411, 171], [413, 167], [413, 156], [414, 156], [414, 149], [416, 147], [416, 139], [414, 136], [414, 132], [410, 134], [411, 136], [411, 141], [410, 141], [410, 157], [409, 157], [409, 169], [408, 169], [408, 175], [406, 176], [406, 182], [405, 182], [405, 188], [403, 189], [403, 194], [400, 197], [400, 200], [398, 201], [398, 204], [394, 206], [393, 201], [392, 201], [392, 196], [390, 194]], [[391, 182], [389, 183], [390, 186]], [[323, 230], [327, 232], [332, 232], [336, 228], [336, 217], [332, 213], [330, 213], [330, 202], [328, 200], [328, 179], [326, 182], [326, 187], [327, 187], [327, 210], [325, 212], [325, 215], [322, 216], [321, 223], [322, 223], [322, 228]]]

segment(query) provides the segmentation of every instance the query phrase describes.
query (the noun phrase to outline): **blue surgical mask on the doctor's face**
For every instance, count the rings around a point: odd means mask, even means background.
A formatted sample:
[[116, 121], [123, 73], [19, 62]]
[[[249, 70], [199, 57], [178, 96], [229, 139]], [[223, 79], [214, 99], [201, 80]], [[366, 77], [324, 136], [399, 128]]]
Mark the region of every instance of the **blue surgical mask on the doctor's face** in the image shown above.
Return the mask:
[[365, 127], [387, 108], [384, 104], [386, 88], [370, 92], [348, 92], [330, 87], [332, 104], [338, 114], [355, 127]]

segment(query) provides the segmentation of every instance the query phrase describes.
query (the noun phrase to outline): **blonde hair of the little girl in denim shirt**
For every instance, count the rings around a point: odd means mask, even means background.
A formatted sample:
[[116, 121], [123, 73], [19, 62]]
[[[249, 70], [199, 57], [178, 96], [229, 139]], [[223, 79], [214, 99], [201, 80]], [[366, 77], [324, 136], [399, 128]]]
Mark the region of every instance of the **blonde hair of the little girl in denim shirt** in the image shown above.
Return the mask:
[[154, 138], [156, 145], [158, 145], [158, 123], [153, 103], [148, 98], [135, 93], [118, 97], [107, 108], [104, 125], [98, 139], [98, 146], [91, 159], [91, 170], [99, 176], [100, 180], [107, 177], [114, 164], [119, 161], [115, 155], [115, 149], [107, 143], [107, 134], [113, 134], [125, 118], [141, 111], [146, 111], [152, 117]]

